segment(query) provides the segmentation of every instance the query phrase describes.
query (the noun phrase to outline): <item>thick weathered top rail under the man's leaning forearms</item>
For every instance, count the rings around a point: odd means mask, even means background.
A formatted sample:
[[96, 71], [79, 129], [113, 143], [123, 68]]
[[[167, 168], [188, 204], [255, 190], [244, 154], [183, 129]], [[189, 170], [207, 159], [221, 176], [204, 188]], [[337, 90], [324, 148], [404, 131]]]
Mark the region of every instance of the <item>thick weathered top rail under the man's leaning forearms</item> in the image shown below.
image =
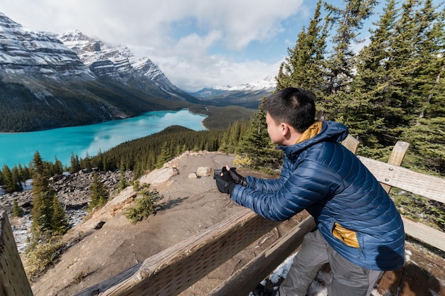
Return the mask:
[[250, 209], [147, 258], [132, 275], [121, 273], [77, 296], [178, 295], [276, 227]]

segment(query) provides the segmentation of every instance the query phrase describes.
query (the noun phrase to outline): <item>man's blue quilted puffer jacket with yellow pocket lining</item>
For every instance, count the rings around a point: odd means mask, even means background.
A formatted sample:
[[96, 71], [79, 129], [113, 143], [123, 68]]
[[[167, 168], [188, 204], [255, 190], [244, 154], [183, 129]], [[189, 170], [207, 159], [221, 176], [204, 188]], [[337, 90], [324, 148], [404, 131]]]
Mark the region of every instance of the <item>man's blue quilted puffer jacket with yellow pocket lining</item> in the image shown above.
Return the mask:
[[[279, 179], [247, 176], [232, 199], [264, 218], [282, 221], [306, 209], [328, 243], [363, 268], [395, 270], [404, 263], [400, 214], [368, 168], [339, 141], [343, 124], [324, 121], [321, 132], [293, 146], [279, 146], [286, 157]], [[353, 232], [358, 246], [334, 236], [336, 226]]]

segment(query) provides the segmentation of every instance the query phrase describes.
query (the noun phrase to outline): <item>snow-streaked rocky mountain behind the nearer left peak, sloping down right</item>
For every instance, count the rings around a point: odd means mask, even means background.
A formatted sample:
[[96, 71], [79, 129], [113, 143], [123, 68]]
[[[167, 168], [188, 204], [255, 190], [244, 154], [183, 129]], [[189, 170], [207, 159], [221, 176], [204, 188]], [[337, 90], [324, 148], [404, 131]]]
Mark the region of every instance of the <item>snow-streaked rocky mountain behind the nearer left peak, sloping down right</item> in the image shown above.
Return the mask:
[[75, 51], [97, 77], [107, 77], [164, 99], [199, 102], [172, 84], [148, 57], [138, 59], [127, 47], [113, 47], [80, 31], [70, 31], [58, 38]]

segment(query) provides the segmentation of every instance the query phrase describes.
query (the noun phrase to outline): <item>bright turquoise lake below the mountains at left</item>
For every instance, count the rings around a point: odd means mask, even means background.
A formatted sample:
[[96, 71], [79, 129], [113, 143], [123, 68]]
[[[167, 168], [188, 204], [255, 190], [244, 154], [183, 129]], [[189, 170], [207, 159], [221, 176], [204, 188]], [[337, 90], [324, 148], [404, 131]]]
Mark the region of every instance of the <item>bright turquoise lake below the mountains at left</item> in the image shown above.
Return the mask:
[[54, 128], [28, 133], [0, 133], [0, 170], [4, 165], [13, 168], [29, 166], [38, 151], [43, 160], [54, 162], [57, 157], [65, 166], [70, 165], [71, 153], [85, 158], [124, 143], [158, 133], [168, 126], [178, 125], [203, 131], [206, 116], [180, 111], [153, 111], [141, 116], [107, 121], [90, 126]]

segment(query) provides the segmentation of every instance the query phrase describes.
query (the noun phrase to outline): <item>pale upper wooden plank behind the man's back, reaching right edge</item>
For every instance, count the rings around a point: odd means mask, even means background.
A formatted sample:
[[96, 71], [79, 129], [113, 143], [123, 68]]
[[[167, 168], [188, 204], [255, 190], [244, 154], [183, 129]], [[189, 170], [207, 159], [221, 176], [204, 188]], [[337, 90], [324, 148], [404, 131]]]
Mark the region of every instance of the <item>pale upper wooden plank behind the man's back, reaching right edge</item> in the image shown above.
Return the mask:
[[445, 179], [358, 156], [379, 182], [445, 203]]

